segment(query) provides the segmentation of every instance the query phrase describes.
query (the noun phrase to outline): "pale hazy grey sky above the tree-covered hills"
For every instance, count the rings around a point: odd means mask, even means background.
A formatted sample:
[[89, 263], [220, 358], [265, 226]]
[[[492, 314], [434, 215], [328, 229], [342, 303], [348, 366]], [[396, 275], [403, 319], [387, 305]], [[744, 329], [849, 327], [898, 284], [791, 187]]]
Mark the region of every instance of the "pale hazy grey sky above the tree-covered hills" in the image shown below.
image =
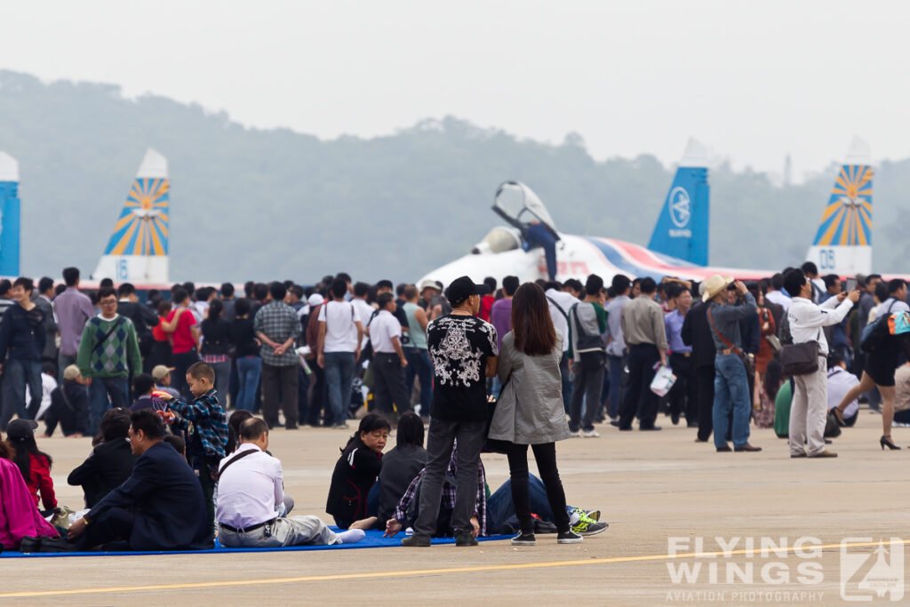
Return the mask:
[[[696, 137], [794, 176], [864, 137], [910, 155], [905, 2], [7, 2], [0, 67], [250, 126], [375, 136], [460, 116], [675, 162]], [[2, 148], [0, 140], [0, 148]]]

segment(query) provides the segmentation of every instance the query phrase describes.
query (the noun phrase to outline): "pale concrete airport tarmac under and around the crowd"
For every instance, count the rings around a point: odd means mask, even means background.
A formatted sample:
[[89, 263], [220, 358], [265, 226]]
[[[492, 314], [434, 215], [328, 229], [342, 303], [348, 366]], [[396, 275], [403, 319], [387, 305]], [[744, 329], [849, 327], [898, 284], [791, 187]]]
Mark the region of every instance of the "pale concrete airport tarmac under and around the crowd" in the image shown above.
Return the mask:
[[[881, 420], [861, 410], [858, 428], [831, 446], [839, 458], [791, 460], [773, 430], [753, 428], [760, 453], [716, 453], [712, 443], [693, 441], [695, 430], [658, 423], [661, 432], [604, 425], [599, 439], [560, 443], [569, 503], [599, 509], [610, 522], [581, 544], [557, 545], [544, 535], [521, 548], [489, 541], [477, 548], [3, 559], [0, 602], [826, 606], [870, 595], [873, 604], [910, 602], [903, 544], [886, 558], [875, 552], [879, 540], [910, 539], [910, 430], [893, 432], [904, 450], [880, 450]], [[269, 449], [283, 462], [295, 513], [330, 521], [329, 477], [347, 438], [329, 429], [272, 432]], [[393, 444], [391, 437], [388, 449]], [[66, 474], [86, 457], [89, 440], [39, 446], [55, 458], [58, 501], [80, 506], [81, 491], [66, 485]], [[495, 491], [508, 476], [505, 457], [483, 460]], [[873, 578], [897, 590], [878, 597], [861, 583]]]

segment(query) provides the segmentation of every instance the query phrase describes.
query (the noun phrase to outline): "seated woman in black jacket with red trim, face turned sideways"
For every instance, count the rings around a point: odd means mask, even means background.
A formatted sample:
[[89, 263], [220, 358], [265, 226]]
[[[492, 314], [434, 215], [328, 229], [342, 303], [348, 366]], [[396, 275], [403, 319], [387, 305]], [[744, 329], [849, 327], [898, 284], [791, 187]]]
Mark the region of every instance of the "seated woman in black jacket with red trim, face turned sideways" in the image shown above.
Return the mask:
[[382, 450], [389, 440], [389, 430], [388, 420], [369, 413], [341, 450], [326, 501], [326, 512], [335, 517], [339, 529], [348, 529], [352, 522], [367, 518], [367, 495], [382, 469]]

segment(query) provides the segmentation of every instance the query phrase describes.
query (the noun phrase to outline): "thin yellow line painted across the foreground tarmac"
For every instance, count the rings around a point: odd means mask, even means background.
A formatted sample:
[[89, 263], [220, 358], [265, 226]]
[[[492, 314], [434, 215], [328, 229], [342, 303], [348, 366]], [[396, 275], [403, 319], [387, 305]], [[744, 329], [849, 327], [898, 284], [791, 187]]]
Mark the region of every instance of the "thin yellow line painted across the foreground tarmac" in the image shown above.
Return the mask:
[[[887, 542], [886, 542], [887, 543]], [[897, 542], [895, 542], [897, 543]], [[910, 543], [910, 540], [901, 540], [901, 544]], [[854, 543], [836, 543], [836, 544], [808, 544], [796, 547], [782, 548], [779, 551], [794, 553], [797, 551], [817, 551], [831, 550], [834, 548], [873, 548], [878, 546], [878, 541], [861, 541]], [[550, 567], [576, 567], [579, 565], [603, 565], [615, 562], [636, 562], [636, 561], [672, 561], [676, 559], [692, 558], [713, 558], [723, 556], [733, 556], [741, 554], [757, 554], [760, 549], [752, 550], [733, 550], [733, 551], [713, 551], [713, 552], [680, 552], [677, 554], [649, 554], [643, 556], [618, 556], [612, 558], [591, 558], [582, 561], [546, 561], [546, 562], [525, 562], [511, 565], [477, 565], [474, 567], [448, 567], [440, 569], [415, 569], [401, 572], [364, 572], [364, 573], [342, 573], [336, 575], [307, 575], [293, 578], [261, 578], [258, 580], [226, 580], [222, 582], [184, 582], [171, 584], [148, 584], [145, 586], [109, 586], [106, 588], [75, 588], [70, 590], [52, 590], [52, 591], [25, 591], [25, 592], [2, 592], [0, 599], [26, 599], [45, 596], [72, 596], [77, 594], [112, 594], [124, 592], [148, 592], [148, 591], [167, 591], [167, 590], [197, 590], [202, 588], [226, 588], [238, 586], [263, 586], [269, 584], [288, 584], [301, 582], [338, 582], [347, 580], [375, 580], [378, 578], [399, 578], [415, 577], [420, 575], [443, 575], [449, 573], [472, 573], [472, 572], [507, 572], [524, 569], [547, 569]]]

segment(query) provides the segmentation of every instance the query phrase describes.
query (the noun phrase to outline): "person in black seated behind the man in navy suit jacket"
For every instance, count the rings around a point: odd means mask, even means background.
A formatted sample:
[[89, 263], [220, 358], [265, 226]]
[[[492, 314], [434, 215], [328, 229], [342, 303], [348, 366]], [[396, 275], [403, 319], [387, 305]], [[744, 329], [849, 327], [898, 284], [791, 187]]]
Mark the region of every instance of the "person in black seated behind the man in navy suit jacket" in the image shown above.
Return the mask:
[[126, 434], [129, 431], [129, 411], [112, 409], [101, 418], [101, 437], [92, 454], [81, 466], [69, 473], [70, 485], [82, 485], [86, 492], [86, 508], [92, 508], [101, 498], [120, 486], [133, 471], [136, 456]]

